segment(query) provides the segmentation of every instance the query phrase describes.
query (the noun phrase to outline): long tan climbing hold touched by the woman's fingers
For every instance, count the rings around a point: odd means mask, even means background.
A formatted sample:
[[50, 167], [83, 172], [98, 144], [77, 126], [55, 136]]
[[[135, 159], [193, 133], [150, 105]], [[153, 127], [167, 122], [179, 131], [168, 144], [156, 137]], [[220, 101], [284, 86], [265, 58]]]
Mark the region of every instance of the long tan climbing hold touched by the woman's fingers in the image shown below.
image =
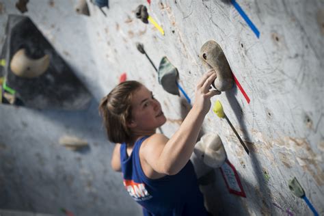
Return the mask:
[[215, 89], [225, 92], [233, 86], [232, 70], [228, 64], [221, 46], [213, 40], [208, 40], [200, 49], [202, 64], [209, 70], [215, 70], [217, 78], [213, 82]]

